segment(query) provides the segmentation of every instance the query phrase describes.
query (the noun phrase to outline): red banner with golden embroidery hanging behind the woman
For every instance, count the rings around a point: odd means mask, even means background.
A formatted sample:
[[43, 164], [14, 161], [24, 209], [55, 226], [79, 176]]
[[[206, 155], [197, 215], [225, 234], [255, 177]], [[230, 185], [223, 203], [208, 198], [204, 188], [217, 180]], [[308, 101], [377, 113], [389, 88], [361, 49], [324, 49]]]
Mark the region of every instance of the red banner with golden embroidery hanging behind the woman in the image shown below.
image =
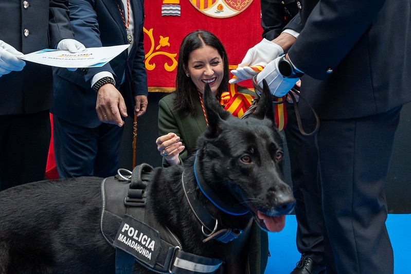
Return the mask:
[[[199, 1], [197, 0], [196, 3]], [[205, 4], [206, 2], [204, 1]], [[251, 1], [240, 0], [240, 2], [246, 4]], [[146, 13], [144, 46], [148, 86], [151, 92], [173, 90], [178, 49], [184, 37], [191, 31], [204, 29], [215, 34], [227, 51], [230, 69], [234, 69], [242, 61], [247, 50], [262, 39], [258, 0], [251, 2], [237, 15], [227, 18], [215, 18], [203, 14], [189, 0], [180, 0], [181, 16], [162, 16], [163, 1], [161, 0], [145, 1], [144, 4]], [[241, 85], [253, 87], [251, 81], [243, 81]]]

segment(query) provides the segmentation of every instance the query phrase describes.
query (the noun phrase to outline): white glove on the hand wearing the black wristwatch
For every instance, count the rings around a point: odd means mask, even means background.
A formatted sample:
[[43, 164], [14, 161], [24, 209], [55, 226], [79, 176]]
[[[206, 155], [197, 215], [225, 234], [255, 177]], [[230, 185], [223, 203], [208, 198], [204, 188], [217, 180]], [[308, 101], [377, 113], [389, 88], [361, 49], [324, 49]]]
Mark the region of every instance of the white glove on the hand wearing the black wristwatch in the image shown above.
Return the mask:
[[268, 63], [257, 75], [257, 84], [262, 87], [262, 80], [265, 79], [270, 87], [270, 92], [276, 97], [283, 97], [295, 85], [299, 78], [285, 78], [278, 71], [278, 62], [281, 56]]

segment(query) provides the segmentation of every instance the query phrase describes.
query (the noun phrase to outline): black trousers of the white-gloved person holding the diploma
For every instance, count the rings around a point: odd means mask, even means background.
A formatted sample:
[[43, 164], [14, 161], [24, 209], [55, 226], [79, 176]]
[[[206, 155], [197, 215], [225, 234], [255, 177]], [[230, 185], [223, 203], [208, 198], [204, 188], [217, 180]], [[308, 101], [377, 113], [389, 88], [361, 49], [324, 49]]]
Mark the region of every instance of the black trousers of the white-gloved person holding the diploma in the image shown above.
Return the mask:
[[0, 116], [0, 190], [45, 179], [48, 111]]

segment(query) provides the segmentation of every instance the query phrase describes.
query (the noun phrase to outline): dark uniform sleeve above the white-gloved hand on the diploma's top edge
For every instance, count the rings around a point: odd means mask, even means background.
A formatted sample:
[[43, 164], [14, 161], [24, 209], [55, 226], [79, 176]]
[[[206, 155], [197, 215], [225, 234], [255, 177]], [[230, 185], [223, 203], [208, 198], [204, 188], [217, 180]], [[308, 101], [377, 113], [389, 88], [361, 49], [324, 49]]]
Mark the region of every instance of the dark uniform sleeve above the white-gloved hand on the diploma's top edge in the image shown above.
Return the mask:
[[56, 45], [63, 39], [74, 38], [68, 15], [69, 11], [67, 0], [50, 0], [48, 14], [50, 48], [55, 48]]

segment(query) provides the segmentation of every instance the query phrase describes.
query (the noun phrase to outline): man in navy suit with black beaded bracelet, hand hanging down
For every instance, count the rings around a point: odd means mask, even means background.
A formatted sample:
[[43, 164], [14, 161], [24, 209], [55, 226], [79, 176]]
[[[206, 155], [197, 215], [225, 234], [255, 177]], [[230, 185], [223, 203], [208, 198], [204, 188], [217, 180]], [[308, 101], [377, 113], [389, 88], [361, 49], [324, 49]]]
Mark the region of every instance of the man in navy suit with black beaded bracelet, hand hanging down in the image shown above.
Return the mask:
[[115, 175], [122, 117], [148, 104], [144, 1], [70, 0], [70, 20], [86, 47], [131, 44], [102, 67], [55, 69], [54, 145], [59, 177]]

